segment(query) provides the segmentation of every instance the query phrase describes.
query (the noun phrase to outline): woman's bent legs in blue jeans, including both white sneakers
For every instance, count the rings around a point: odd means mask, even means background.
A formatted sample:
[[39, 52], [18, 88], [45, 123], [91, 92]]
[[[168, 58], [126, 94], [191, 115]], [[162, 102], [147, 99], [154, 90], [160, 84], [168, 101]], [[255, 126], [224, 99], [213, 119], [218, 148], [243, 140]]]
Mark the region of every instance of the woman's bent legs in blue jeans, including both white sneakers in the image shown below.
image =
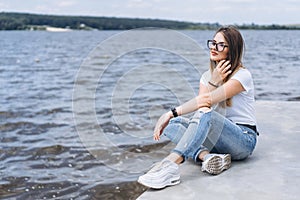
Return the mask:
[[[165, 135], [172, 136], [171, 140], [177, 143], [171, 155], [182, 160], [193, 158], [198, 161], [201, 155], [207, 154], [210, 150], [232, 154], [233, 159], [244, 159], [252, 153], [256, 145], [254, 131], [237, 126], [215, 111], [197, 111], [187, 128], [180, 125], [182, 129], [178, 127], [175, 129], [174, 126], [173, 131], [177, 131], [173, 132], [171, 127], [169, 127], [170, 132], [167, 129], [165, 132]], [[222, 172], [230, 166], [229, 154], [206, 155], [202, 169], [211, 174]], [[138, 182], [152, 188], [178, 184], [180, 175], [176, 163], [174, 160], [164, 159], [147, 174], [140, 176]]]

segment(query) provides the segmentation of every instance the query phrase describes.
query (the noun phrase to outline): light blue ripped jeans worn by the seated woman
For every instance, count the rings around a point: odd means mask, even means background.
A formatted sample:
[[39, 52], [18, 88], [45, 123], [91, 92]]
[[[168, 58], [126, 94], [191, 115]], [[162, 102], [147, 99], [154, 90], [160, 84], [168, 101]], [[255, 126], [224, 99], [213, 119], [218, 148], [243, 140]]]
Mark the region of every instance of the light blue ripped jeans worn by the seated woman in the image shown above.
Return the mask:
[[164, 129], [176, 147], [173, 152], [184, 160], [192, 158], [199, 162], [202, 151], [231, 154], [232, 160], [243, 160], [250, 156], [256, 145], [256, 132], [236, 125], [216, 111], [196, 111], [191, 119], [172, 118]]

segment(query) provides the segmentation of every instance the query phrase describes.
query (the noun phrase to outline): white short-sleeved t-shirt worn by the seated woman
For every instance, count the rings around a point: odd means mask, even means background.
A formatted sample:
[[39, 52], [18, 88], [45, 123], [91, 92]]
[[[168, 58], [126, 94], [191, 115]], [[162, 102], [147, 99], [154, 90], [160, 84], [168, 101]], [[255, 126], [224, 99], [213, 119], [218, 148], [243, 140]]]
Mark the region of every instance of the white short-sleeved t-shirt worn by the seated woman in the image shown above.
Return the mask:
[[[210, 76], [210, 71], [206, 71], [201, 76], [200, 83], [207, 86]], [[217, 106], [216, 110], [223, 110], [223, 115], [234, 123], [256, 125], [254, 84], [251, 73], [245, 68], [240, 68], [230, 79], [239, 81], [245, 91], [232, 97], [231, 107], [226, 106], [224, 110], [224, 108], [220, 109], [220, 106]]]

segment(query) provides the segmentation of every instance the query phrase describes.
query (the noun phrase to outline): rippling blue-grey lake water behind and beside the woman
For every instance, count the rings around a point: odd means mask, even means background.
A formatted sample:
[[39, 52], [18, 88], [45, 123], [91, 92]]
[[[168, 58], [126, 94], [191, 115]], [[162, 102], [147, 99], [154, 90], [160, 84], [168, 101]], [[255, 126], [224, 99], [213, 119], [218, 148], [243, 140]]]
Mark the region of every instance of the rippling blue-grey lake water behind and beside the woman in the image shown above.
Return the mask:
[[[197, 92], [207, 55], [179, 48], [195, 69], [172, 52], [137, 49], [105, 68], [110, 55], [90, 52], [117, 33], [0, 32], [1, 199], [135, 199], [145, 190], [136, 178], [171, 148], [152, 141], [155, 119]], [[183, 33], [204, 49], [213, 35]], [[242, 31], [257, 100], [300, 99], [299, 33]], [[118, 43], [115, 51], [128, 44]], [[78, 81], [86, 62], [88, 73]], [[95, 78], [95, 88], [74, 95], [76, 84], [90, 86]], [[95, 102], [97, 123], [75, 123], [74, 117], [93, 114], [87, 102]]]

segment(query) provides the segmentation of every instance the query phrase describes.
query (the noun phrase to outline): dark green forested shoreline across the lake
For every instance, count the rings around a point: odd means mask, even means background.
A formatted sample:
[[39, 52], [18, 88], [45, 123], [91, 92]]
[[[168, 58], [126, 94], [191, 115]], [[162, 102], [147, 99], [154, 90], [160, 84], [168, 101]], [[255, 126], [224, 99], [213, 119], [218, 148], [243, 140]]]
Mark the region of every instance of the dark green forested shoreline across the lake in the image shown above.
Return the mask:
[[[0, 13], [0, 30], [43, 30], [45, 27], [84, 29], [84, 30], [128, 30], [142, 27], [157, 27], [168, 29], [216, 29], [219, 23], [191, 23], [183, 21], [88, 17], [88, 16], [58, 16], [29, 13]], [[240, 29], [300, 29], [299, 25], [236, 25]]]

